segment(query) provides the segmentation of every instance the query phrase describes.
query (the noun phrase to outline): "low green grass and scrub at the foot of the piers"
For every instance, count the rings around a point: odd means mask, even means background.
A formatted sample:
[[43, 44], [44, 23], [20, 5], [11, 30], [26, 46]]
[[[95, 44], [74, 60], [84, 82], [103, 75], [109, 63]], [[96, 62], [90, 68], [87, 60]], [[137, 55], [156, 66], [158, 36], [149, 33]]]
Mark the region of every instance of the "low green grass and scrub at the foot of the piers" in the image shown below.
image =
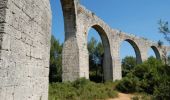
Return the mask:
[[96, 100], [117, 97], [115, 84], [94, 83], [86, 79], [75, 82], [52, 83], [49, 86], [49, 100]]

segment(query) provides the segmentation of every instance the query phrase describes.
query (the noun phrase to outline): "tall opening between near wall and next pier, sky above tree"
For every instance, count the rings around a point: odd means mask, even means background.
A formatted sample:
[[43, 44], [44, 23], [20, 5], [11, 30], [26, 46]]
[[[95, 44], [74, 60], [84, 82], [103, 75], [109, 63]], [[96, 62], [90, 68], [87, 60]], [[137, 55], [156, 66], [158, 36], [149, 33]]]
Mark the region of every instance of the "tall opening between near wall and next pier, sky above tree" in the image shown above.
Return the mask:
[[62, 48], [64, 42], [64, 17], [60, 0], [50, 0], [52, 10], [52, 36], [50, 49], [49, 82], [62, 81]]

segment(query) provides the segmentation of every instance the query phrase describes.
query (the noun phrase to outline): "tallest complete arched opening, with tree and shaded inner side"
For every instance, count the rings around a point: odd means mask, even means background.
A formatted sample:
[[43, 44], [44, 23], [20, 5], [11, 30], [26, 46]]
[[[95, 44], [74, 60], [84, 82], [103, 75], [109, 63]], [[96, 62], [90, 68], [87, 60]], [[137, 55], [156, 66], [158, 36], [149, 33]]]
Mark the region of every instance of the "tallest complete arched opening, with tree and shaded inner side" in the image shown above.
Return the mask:
[[112, 80], [109, 40], [105, 31], [98, 25], [88, 32], [89, 78], [94, 82]]

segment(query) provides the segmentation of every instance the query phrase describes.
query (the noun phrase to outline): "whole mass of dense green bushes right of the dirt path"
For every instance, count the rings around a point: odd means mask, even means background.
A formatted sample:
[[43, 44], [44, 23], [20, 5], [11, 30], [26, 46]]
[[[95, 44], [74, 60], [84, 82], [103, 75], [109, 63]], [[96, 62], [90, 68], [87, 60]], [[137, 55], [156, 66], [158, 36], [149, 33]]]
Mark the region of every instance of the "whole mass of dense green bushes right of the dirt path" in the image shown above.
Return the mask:
[[170, 67], [151, 57], [134, 67], [116, 86], [124, 93], [142, 92], [155, 100], [170, 98]]

